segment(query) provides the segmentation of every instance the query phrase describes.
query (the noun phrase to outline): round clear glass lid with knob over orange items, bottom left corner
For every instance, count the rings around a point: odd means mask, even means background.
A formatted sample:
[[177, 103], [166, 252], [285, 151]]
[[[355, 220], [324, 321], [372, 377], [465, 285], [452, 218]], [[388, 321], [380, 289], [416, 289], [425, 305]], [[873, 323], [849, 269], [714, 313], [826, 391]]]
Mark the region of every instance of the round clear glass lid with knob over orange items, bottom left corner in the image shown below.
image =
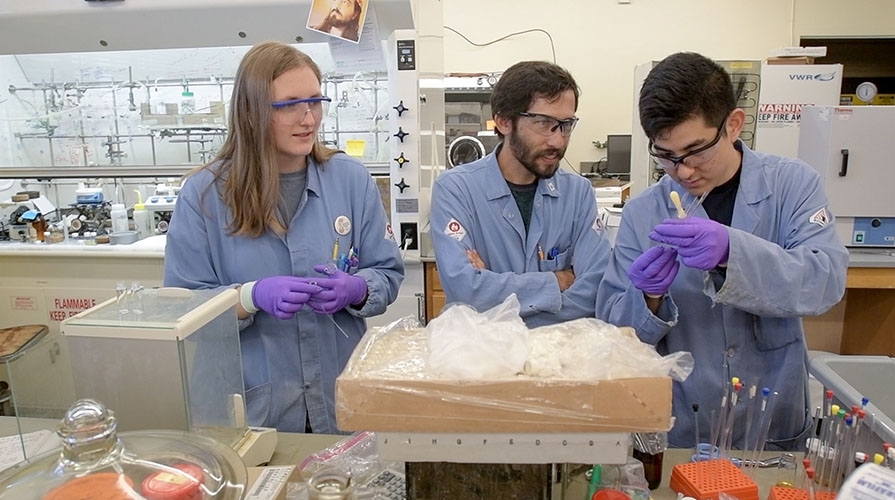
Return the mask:
[[62, 449], [0, 474], [0, 499], [242, 498], [245, 464], [227, 446], [186, 432], [116, 428], [102, 403], [75, 402], [56, 430]]

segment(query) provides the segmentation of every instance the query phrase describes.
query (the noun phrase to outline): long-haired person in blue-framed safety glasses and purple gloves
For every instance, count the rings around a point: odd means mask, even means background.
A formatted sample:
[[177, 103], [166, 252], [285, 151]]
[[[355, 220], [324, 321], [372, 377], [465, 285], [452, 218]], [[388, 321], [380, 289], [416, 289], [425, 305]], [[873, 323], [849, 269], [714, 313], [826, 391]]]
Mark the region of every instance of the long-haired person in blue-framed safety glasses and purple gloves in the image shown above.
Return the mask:
[[320, 142], [328, 102], [306, 54], [252, 47], [227, 139], [187, 177], [165, 247], [165, 286], [239, 290], [248, 423], [284, 432], [339, 432], [336, 377], [404, 278], [370, 173]]

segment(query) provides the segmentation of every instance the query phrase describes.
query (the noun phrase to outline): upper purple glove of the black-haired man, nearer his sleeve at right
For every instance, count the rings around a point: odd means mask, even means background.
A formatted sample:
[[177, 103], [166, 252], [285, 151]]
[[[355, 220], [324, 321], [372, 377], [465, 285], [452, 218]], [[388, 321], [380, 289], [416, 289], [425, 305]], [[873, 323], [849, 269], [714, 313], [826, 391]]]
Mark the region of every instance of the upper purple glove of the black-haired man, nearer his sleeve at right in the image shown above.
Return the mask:
[[677, 247], [687, 267], [708, 271], [727, 262], [730, 235], [727, 226], [702, 217], [665, 219], [649, 235], [653, 241]]

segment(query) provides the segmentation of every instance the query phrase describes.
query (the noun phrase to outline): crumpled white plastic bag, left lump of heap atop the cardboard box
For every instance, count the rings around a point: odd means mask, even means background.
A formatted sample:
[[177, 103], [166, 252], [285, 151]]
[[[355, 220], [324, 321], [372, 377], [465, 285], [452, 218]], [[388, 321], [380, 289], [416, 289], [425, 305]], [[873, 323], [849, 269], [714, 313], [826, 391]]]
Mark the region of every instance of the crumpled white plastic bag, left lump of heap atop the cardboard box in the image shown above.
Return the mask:
[[459, 380], [493, 380], [521, 373], [529, 346], [520, 309], [516, 294], [484, 313], [465, 304], [449, 306], [426, 326], [429, 369]]

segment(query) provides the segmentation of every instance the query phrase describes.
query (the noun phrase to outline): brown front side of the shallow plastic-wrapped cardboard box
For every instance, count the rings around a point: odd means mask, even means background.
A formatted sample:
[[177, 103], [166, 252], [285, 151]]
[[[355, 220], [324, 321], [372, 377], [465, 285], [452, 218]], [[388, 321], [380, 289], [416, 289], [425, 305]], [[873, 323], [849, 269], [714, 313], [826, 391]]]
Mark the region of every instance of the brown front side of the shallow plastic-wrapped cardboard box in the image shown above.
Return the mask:
[[336, 420], [343, 431], [661, 432], [671, 428], [671, 379], [471, 382], [340, 376]]

